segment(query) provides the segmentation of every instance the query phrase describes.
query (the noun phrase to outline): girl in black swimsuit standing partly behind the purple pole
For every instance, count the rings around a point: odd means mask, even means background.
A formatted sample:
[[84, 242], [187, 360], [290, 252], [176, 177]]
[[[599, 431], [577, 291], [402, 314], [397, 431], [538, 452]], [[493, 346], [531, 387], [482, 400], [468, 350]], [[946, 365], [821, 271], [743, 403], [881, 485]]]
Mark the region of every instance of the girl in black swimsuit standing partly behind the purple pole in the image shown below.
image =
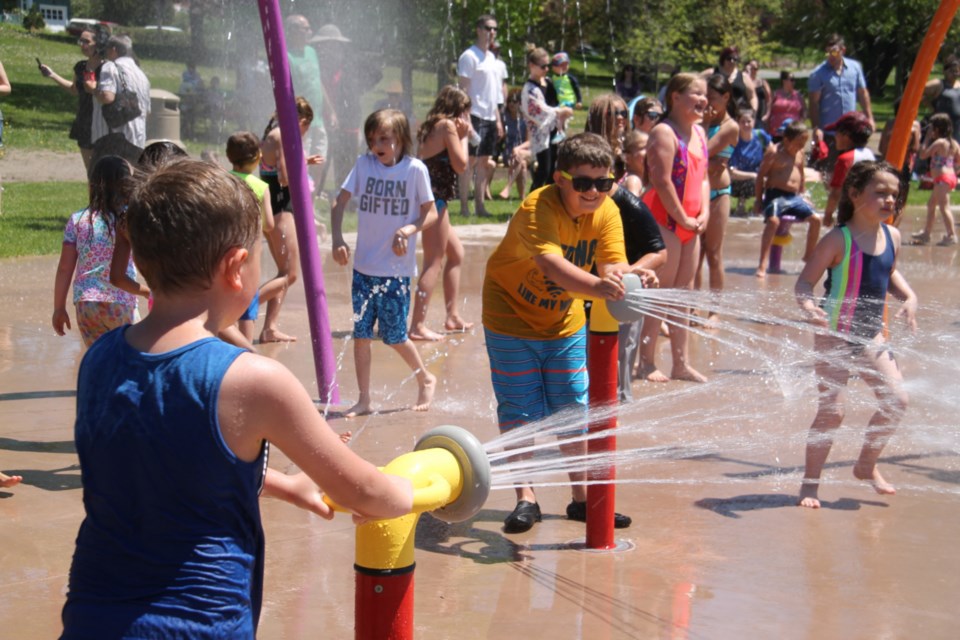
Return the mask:
[[[300, 137], [306, 135], [313, 123], [313, 108], [302, 97], [297, 98], [297, 118], [300, 124]], [[297, 247], [297, 227], [293, 221], [293, 208], [290, 204], [290, 187], [287, 182], [287, 165], [283, 156], [283, 142], [280, 139], [280, 127], [277, 116], [270, 119], [263, 134], [260, 158], [260, 178], [270, 186], [270, 208], [273, 210], [275, 226], [268, 237], [270, 255], [277, 264], [277, 275], [260, 287], [260, 302], [267, 303], [267, 314], [260, 332], [260, 342], [290, 342], [296, 340], [277, 328], [280, 319], [280, 307], [291, 285], [297, 281], [300, 273], [300, 249]], [[323, 157], [310, 156], [308, 165], [323, 163]], [[320, 229], [321, 236], [324, 230]]]

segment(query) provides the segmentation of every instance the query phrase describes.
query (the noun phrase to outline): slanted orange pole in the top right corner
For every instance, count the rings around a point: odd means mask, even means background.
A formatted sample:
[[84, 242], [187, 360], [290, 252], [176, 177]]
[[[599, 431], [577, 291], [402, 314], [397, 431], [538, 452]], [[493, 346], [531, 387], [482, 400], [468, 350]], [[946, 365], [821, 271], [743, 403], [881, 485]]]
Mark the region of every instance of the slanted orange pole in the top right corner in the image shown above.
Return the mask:
[[910, 142], [910, 129], [920, 110], [920, 98], [923, 97], [923, 89], [927, 84], [927, 78], [930, 77], [933, 63], [937, 60], [940, 45], [947, 37], [947, 31], [950, 29], [953, 16], [956, 15], [958, 8], [960, 8], [960, 0], [942, 0], [940, 2], [940, 8], [933, 15], [930, 28], [927, 29], [927, 35], [923, 39], [923, 44], [920, 45], [920, 51], [917, 52], [917, 59], [913, 62], [910, 79], [907, 80], [907, 87], [904, 89], [903, 98], [900, 100], [897, 119], [893, 123], [890, 146], [887, 147], [887, 162], [897, 169], [903, 167], [903, 161], [907, 156], [907, 145]]

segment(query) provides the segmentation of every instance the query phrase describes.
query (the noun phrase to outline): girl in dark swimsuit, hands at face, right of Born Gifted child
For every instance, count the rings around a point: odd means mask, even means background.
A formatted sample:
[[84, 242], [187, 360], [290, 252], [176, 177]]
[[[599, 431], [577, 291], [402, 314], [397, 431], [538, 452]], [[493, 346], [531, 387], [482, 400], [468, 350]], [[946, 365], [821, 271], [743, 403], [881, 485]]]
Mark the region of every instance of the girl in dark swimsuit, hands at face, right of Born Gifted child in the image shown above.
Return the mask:
[[457, 176], [467, 168], [467, 134], [470, 132], [470, 96], [453, 86], [446, 86], [437, 94], [437, 100], [420, 126], [417, 142], [419, 155], [430, 174], [430, 186], [436, 198], [439, 220], [423, 231], [423, 273], [417, 283], [410, 320], [410, 338], [413, 340], [442, 340], [443, 335], [427, 327], [427, 306], [437, 286], [443, 257], [443, 298], [447, 331], [466, 331], [473, 327], [457, 310], [460, 297], [460, 266], [463, 264], [463, 245], [450, 224], [447, 203], [457, 197]]

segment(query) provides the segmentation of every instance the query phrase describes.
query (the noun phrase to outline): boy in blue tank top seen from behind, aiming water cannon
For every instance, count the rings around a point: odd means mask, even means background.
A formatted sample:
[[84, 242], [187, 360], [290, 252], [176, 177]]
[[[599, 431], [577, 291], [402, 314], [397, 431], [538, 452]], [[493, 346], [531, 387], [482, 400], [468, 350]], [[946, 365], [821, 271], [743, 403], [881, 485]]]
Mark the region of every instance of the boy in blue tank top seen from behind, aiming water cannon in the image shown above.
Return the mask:
[[[75, 439], [86, 512], [63, 638], [253, 638], [259, 496], [324, 518], [409, 513], [412, 489], [344, 445], [283, 365], [216, 336], [260, 279], [260, 205], [241, 180], [174, 161], [131, 186], [127, 229], [154, 296], [87, 351]], [[272, 442], [303, 472], [267, 467]]]

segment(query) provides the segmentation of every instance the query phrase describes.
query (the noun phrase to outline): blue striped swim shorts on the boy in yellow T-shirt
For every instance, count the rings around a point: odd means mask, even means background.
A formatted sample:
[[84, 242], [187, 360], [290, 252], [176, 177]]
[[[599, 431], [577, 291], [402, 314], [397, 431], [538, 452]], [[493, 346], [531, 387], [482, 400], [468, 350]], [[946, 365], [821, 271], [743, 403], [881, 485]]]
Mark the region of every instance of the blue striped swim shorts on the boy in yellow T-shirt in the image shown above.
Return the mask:
[[[500, 431], [562, 409], [587, 408], [587, 330], [568, 338], [527, 340], [483, 330]], [[585, 424], [584, 424], [585, 428]]]

